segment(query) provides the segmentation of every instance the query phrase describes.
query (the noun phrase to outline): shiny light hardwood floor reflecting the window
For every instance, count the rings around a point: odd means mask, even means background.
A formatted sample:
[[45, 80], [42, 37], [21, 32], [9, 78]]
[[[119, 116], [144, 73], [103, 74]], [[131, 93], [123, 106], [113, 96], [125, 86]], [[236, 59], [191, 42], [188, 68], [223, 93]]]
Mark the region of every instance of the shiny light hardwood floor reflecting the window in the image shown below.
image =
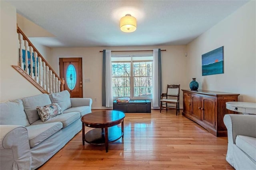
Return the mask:
[[[96, 111], [96, 110], [94, 110]], [[92, 111], [93, 112], [93, 111]], [[86, 132], [91, 128], [86, 127]], [[40, 170], [234, 169], [226, 162], [228, 139], [216, 137], [174, 110], [126, 113], [124, 139], [82, 145], [79, 132]]]

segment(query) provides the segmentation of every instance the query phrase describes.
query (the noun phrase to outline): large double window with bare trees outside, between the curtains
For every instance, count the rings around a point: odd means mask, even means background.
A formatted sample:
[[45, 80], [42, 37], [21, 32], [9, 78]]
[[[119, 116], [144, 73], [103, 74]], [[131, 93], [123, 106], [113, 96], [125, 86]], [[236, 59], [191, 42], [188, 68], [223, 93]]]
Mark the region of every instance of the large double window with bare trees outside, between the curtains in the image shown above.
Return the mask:
[[153, 56], [112, 56], [113, 97], [152, 98]]

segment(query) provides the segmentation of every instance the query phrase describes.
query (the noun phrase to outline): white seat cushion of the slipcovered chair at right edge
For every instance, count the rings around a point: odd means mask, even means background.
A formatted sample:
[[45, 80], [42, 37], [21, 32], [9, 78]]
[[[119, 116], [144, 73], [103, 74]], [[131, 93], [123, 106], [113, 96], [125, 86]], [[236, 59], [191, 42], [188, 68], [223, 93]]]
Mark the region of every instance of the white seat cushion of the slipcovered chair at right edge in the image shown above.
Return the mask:
[[256, 161], [256, 138], [237, 135], [236, 146]]

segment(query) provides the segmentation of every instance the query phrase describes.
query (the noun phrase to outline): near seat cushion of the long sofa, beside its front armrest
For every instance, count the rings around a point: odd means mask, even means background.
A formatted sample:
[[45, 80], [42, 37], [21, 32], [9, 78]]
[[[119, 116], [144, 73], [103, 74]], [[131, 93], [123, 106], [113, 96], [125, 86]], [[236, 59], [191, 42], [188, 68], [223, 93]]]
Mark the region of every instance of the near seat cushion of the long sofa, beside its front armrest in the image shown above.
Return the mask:
[[58, 132], [62, 128], [62, 123], [54, 122], [40, 125], [30, 125], [26, 128], [28, 129], [30, 148], [33, 148], [48, 137], [52, 136], [52, 134]]

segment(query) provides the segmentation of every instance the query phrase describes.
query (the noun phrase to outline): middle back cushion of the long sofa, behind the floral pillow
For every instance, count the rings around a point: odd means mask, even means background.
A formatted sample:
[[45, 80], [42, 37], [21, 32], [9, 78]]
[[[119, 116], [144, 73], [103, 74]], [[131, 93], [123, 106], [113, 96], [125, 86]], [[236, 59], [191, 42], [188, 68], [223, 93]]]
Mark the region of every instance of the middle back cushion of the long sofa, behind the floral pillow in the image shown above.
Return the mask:
[[25, 97], [22, 99], [22, 102], [30, 124], [40, 119], [36, 107], [46, 106], [52, 103], [47, 94]]

